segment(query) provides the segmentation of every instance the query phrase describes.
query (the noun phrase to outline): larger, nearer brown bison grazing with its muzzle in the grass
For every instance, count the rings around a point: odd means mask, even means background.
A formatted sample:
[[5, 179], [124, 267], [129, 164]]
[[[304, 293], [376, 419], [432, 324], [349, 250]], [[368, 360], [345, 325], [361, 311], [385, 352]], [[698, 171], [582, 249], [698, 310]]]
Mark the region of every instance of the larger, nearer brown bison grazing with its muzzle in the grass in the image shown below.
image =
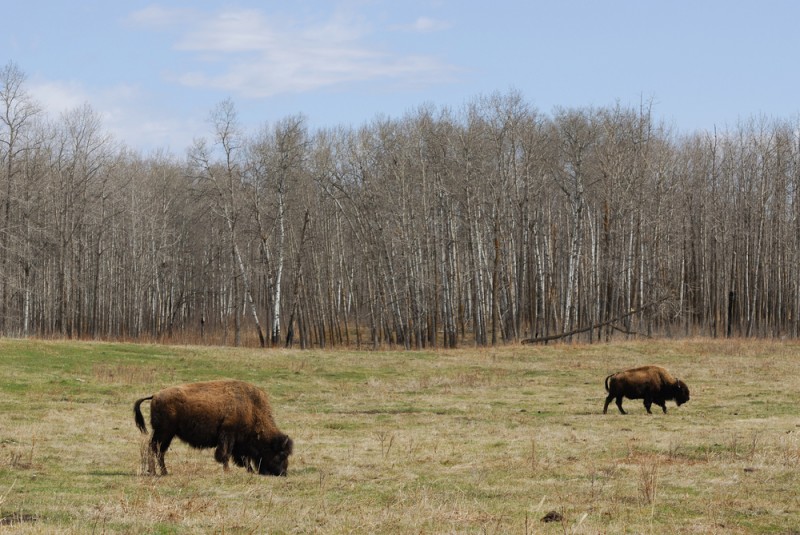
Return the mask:
[[[214, 458], [262, 475], [285, 476], [292, 439], [275, 426], [263, 390], [243, 381], [221, 380], [165, 388], [133, 405], [136, 426], [147, 432], [143, 401], [150, 401], [150, 449], [166, 474], [164, 454], [174, 437], [195, 448], [214, 448]], [[151, 464], [151, 472], [154, 471]]]

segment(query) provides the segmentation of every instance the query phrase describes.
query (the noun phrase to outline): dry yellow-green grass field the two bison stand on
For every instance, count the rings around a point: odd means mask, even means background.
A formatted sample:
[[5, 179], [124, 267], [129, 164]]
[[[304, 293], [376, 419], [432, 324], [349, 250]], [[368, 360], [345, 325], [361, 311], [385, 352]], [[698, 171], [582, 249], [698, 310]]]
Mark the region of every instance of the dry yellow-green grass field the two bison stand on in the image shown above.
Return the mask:
[[[691, 401], [602, 414], [605, 376], [650, 363], [685, 380]], [[800, 534], [794, 342], [322, 352], [0, 340], [0, 366], [0, 532]], [[170, 475], [143, 475], [133, 401], [218, 377], [270, 394], [295, 441], [289, 476], [223, 473], [212, 450], [177, 441]]]

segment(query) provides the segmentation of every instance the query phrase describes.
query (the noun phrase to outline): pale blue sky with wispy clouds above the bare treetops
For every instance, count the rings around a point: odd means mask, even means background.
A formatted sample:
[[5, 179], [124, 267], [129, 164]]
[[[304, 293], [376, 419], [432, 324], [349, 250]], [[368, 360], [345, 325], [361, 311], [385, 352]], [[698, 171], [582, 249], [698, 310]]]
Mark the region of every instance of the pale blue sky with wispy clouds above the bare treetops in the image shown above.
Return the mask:
[[145, 152], [183, 154], [226, 98], [252, 131], [513, 89], [544, 113], [652, 101], [691, 132], [798, 118], [799, 22], [794, 0], [27, 0], [3, 8], [0, 64]]

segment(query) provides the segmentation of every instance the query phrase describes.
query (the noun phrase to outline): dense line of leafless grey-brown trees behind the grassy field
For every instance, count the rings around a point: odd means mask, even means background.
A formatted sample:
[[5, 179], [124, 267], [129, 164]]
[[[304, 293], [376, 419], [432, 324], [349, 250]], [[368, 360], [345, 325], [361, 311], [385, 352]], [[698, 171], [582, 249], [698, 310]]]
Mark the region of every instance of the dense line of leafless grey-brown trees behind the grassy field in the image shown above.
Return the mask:
[[452, 348], [800, 334], [800, 130], [516, 91], [142, 155], [0, 71], [0, 334]]

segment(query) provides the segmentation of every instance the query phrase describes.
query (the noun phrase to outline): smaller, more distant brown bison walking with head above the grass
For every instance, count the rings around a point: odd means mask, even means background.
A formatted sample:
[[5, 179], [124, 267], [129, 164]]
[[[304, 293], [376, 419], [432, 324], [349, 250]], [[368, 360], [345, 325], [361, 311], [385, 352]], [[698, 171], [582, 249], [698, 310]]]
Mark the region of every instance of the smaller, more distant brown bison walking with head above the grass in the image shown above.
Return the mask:
[[650, 406], [655, 403], [660, 406], [664, 413], [667, 412], [665, 402], [674, 399], [680, 407], [689, 401], [689, 387], [680, 379], [673, 377], [661, 366], [642, 366], [624, 372], [612, 373], [606, 377], [606, 391], [608, 397], [603, 406], [603, 414], [608, 411], [608, 404], [617, 398], [619, 412], [626, 414], [622, 410], [622, 398], [643, 399], [644, 408], [650, 412]]

